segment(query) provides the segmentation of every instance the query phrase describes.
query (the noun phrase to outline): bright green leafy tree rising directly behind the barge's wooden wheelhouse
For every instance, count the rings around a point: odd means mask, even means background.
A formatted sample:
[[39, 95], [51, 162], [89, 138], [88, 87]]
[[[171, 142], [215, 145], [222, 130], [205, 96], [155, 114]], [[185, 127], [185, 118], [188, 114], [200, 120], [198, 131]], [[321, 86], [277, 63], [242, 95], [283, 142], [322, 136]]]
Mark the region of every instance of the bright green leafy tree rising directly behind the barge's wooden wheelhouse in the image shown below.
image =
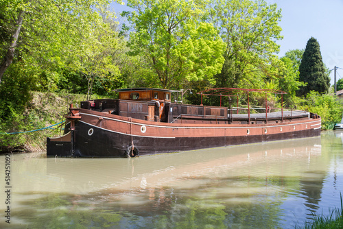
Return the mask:
[[224, 43], [213, 25], [202, 22], [204, 5], [193, 0], [128, 1], [132, 23], [130, 54], [145, 57], [163, 88], [211, 80], [220, 72]]

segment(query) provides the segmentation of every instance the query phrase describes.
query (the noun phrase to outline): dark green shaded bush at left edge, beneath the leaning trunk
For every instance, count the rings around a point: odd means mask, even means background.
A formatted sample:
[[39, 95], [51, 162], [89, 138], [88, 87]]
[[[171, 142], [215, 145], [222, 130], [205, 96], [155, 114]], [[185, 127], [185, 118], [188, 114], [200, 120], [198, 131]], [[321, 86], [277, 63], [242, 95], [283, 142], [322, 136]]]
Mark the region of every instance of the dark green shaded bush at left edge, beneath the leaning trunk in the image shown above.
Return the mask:
[[26, 136], [3, 134], [32, 130], [37, 120], [29, 114], [31, 90], [35, 88], [34, 73], [23, 62], [12, 64], [0, 84], [0, 152], [22, 148]]

